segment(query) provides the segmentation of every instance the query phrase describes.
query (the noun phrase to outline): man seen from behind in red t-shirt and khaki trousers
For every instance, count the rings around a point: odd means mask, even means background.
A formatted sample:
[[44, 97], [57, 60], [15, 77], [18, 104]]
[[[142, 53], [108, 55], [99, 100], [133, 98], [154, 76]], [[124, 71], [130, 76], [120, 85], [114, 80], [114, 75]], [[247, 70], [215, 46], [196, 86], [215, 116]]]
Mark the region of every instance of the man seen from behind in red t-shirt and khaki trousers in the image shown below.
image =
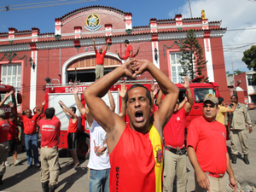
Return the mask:
[[41, 132], [41, 183], [43, 191], [54, 191], [58, 184], [61, 121], [53, 119], [55, 110], [47, 108], [45, 119], [38, 121]]

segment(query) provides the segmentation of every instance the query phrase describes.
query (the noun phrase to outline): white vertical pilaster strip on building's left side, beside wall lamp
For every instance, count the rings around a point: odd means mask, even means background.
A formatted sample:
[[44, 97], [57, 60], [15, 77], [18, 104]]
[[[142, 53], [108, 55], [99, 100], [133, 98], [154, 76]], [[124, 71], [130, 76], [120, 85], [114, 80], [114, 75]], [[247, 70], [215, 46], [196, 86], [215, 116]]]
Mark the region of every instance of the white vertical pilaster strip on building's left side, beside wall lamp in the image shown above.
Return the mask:
[[[33, 53], [35, 52], [35, 57]], [[27, 66], [31, 68], [30, 72], [30, 104], [29, 107], [32, 110], [37, 105], [37, 70], [38, 70], [38, 51], [33, 50], [31, 53], [33, 62], [35, 63], [35, 69], [33, 69], [30, 63]]]

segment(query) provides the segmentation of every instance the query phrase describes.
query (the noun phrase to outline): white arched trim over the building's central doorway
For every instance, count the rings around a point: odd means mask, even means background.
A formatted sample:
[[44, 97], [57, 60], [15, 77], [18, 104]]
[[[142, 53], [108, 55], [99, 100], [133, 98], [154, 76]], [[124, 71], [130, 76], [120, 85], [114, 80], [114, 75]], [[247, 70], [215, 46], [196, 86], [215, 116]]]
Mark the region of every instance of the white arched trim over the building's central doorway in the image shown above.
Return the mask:
[[[65, 63], [62, 66], [62, 72], [61, 72], [61, 82], [62, 82], [62, 84], [67, 84], [67, 82], [68, 82], [68, 79], [67, 79], [67, 66], [72, 61], [75, 61], [75, 60], [77, 60], [79, 58], [82, 58], [82, 57], [91, 56], [91, 55], [95, 55], [95, 52], [94, 51], [90, 51], [90, 52], [82, 53], [82, 54], [79, 54], [79, 55], [74, 55], [73, 57], [70, 57], [67, 61], [65, 61]], [[108, 53], [107, 52], [106, 55], [107, 56], [112, 56], [112, 57], [117, 58], [118, 60], [120, 60], [118, 55], [116, 55], [116, 54]]]

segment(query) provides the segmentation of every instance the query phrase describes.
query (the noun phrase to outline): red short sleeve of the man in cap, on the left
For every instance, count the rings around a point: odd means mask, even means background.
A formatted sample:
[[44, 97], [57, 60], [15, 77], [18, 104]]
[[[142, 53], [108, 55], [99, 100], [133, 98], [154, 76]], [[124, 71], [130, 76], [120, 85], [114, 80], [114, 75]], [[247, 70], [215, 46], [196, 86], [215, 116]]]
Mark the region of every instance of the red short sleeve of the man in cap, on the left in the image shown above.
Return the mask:
[[192, 120], [189, 125], [189, 132], [187, 136], [187, 148], [191, 146], [196, 149], [197, 143], [199, 141], [199, 125], [197, 125], [197, 120]]

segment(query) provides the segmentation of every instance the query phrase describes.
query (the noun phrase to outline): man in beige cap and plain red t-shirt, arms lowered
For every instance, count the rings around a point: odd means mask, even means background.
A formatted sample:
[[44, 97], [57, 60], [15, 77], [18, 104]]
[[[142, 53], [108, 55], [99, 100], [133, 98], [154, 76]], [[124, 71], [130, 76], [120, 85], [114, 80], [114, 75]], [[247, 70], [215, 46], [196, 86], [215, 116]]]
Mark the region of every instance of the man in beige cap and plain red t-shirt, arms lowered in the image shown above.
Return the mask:
[[195, 191], [226, 191], [225, 172], [230, 187], [237, 189], [226, 146], [226, 130], [216, 120], [218, 98], [207, 94], [203, 102], [203, 115], [189, 125], [187, 150], [195, 169]]

